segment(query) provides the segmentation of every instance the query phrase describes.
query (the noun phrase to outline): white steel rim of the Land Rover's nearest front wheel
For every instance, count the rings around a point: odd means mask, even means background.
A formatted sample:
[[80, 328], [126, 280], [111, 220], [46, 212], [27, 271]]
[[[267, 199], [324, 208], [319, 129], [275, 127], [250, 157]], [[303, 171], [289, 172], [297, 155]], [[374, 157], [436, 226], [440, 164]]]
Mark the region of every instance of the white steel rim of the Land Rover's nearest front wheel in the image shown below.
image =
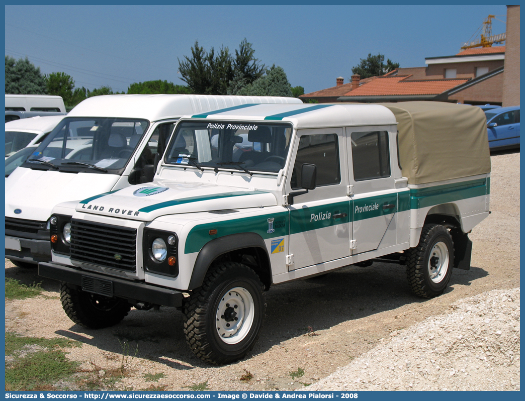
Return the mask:
[[246, 337], [254, 322], [254, 298], [243, 287], [226, 291], [215, 314], [217, 334], [226, 344], [237, 344]]

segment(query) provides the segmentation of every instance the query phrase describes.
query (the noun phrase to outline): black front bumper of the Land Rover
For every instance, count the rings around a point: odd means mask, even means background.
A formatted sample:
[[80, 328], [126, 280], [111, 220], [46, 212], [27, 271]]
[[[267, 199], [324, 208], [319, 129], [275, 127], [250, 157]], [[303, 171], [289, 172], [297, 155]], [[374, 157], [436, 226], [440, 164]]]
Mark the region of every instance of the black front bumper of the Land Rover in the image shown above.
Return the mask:
[[[182, 306], [183, 296], [181, 291], [154, 286], [143, 281], [124, 280], [51, 262], [38, 263], [38, 275], [74, 284], [85, 291], [104, 296], [109, 295], [107, 292], [109, 285], [112, 296], [127, 299], [132, 304], [148, 302], [167, 307]], [[90, 284], [95, 282], [95, 285], [90, 285], [88, 288], [86, 282]], [[99, 285], [100, 283], [102, 284]], [[103, 289], [99, 290], [102, 287]]]

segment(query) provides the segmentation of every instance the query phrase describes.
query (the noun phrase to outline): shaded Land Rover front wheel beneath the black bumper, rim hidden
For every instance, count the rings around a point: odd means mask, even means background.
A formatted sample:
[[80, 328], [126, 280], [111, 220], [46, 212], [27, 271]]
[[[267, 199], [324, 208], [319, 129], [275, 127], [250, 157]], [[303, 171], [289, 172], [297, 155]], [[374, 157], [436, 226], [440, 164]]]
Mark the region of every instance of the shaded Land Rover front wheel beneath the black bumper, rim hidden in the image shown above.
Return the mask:
[[102, 329], [120, 322], [131, 305], [121, 298], [109, 298], [60, 283], [60, 300], [68, 318], [88, 329]]

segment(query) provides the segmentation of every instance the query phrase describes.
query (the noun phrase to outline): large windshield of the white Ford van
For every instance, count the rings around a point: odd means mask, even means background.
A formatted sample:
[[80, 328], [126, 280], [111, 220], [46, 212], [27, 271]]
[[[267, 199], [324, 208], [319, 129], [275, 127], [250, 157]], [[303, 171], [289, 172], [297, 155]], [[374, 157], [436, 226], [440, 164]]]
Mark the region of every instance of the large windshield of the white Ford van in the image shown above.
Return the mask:
[[148, 125], [146, 120], [66, 118], [28, 156], [23, 166], [121, 174]]

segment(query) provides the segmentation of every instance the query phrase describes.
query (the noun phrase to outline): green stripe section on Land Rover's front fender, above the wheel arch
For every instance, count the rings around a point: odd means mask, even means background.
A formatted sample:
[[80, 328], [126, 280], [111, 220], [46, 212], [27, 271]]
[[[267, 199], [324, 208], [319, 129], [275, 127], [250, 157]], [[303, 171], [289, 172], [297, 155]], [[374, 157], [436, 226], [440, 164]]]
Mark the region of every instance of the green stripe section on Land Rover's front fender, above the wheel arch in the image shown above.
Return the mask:
[[[232, 234], [256, 233], [262, 239], [286, 237], [288, 236], [288, 224], [288, 212], [199, 224], [193, 227], [186, 237], [184, 253], [198, 252], [212, 239]], [[210, 235], [210, 230], [217, 230], [217, 234]]]

